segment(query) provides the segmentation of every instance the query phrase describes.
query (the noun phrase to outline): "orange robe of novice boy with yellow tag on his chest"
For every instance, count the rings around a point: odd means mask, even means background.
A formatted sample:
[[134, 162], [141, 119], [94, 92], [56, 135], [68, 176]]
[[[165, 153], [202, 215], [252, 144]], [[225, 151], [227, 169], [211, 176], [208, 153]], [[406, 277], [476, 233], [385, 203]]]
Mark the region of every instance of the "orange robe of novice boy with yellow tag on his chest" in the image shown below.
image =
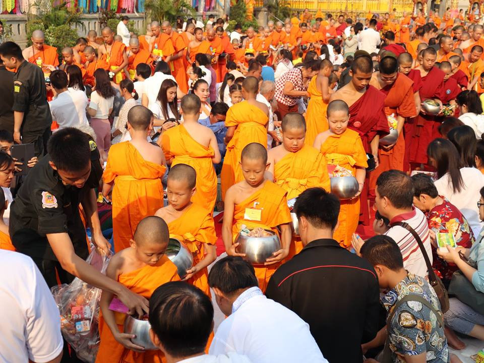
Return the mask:
[[[235, 204], [232, 221], [232, 237], [234, 241], [243, 224], [250, 229], [262, 227], [279, 234], [277, 226], [291, 222], [291, 215], [287, 207], [286, 192], [284, 189], [269, 180], [264, 183], [264, 187], [260, 190], [246, 198], [240, 204]], [[257, 204], [257, 208], [262, 209], [261, 220], [253, 221], [244, 219], [246, 208], [254, 208], [254, 203], [256, 202], [259, 203]], [[263, 292], [267, 288], [269, 279], [281, 264], [254, 266], [257, 279], [259, 280], [259, 287]]]

